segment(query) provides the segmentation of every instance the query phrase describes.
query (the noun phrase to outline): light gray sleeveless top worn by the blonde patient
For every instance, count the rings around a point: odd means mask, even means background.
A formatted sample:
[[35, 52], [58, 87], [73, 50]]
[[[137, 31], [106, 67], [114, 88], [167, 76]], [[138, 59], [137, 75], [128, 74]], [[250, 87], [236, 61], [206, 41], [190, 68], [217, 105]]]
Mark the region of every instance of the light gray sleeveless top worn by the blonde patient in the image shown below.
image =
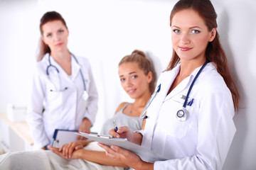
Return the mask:
[[129, 115], [125, 115], [123, 113], [124, 108], [126, 108], [127, 105], [128, 105], [128, 103], [120, 111], [118, 111], [116, 114], [114, 114], [114, 118], [110, 118], [103, 124], [100, 135], [109, 135], [108, 134], [109, 130], [114, 128], [113, 120], [116, 121], [117, 127], [128, 126], [129, 129], [132, 130], [132, 132], [134, 132], [135, 130], [142, 130], [142, 119], [141, 118], [132, 117]]

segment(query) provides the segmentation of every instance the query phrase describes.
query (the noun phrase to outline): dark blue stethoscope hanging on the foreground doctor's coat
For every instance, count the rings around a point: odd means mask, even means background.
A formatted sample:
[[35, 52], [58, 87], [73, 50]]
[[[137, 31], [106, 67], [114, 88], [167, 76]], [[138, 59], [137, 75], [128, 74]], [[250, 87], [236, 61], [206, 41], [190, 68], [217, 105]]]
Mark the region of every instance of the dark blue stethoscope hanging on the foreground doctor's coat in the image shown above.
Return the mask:
[[[196, 79], [198, 78], [199, 74], [201, 74], [202, 70], [204, 67], [206, 67], [206, 64], [208, 63], [209, 61], [206, 59], [206, 62], [203, 64], [203, 66], [201, 67], [201, 69], [199, 69], [198, 73], [196, 74], [196, 77], [193, 79], [192, 83], [191, 83], [191, 86], [189, 86], [189, 89], [188, 89], [188, 93], [186, 95], [186, 98], [185, 98], [185, 101], [183, 103], [183, 107], [181, 110], [177, 111], [177, 114], [176, 114], [176, 118], [180, 121], [186, 121], [188, 120], [189, 118], [189, 113], [188, 111], [186, 110], [186, 105], [187, 105], [187, 102], [188, 102], [188, 96], [193, 88], [193, 84], [195, 84], [195, 81]], [[154, 94], [152, 94], [151, 98], [149, 98], [149, 101], [146, 103], [146, 106], [144, 107], [141, 115], [139, 116], [139, 118], [142, 118], [143, 120], [146, 119], [146, 118], [149, 118], [147, 115], [146, 115], [146, 110], [147, 108], [149, 108], [149, 105], [151, 104], [151, 102], [153, 101], [153, 99], [156, 97], [156, 94], [159, 93], [161, 89], [161, 84], [159, 84], [159, 86], [157, 87], [157, 90], [154, 92]]]

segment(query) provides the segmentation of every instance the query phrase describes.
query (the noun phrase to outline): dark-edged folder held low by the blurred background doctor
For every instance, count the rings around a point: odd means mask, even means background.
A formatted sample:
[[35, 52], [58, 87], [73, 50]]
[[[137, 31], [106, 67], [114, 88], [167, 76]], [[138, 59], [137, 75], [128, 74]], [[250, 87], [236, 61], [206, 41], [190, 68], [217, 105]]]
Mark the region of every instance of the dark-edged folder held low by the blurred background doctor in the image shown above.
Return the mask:
[[76, 134], [78, 130], [62, 130], [55, 129], [53, 134], [53, 147], [61, 147], [62, 145], [75, 142], [78, 135]]

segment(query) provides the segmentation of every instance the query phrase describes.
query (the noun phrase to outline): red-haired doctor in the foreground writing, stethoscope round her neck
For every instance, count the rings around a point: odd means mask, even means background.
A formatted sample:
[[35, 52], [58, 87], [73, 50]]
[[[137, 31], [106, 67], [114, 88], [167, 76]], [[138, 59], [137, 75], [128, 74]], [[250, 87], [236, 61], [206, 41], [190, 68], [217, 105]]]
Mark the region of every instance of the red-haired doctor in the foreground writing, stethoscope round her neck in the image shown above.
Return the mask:
[[239, 94], [220, 45], [210, 0], [180, 0], [171, 11], [173, 56], [141, 118], [144, 130], [110, 130], [165, 159], [99, 144], [134, 169], [222, 169], [235, 135]]

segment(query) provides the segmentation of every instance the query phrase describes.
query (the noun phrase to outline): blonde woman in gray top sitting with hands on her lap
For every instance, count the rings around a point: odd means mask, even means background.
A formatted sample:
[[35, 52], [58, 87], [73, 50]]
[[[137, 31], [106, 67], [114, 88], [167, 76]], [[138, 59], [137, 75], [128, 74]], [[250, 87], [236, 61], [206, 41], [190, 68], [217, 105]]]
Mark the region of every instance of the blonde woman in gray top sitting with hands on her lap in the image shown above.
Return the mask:
[[[146, 102], [154, 91], [154, 72], [144, 52], [134, 50], [119, 62], [119, 79], [122, 88], [134, 99], [134, 103], [121, 103], [113, 118], [102, 126], [100, 134], [108, 135], [113, 128], [113, 119], [118, 126], [141, 130], [139, 118]], [[105, 155], [97, 142], [78, 140], [52, 151], [13, 152], [0, 156], [0, 169], [124, 169], [127, 165]]]

